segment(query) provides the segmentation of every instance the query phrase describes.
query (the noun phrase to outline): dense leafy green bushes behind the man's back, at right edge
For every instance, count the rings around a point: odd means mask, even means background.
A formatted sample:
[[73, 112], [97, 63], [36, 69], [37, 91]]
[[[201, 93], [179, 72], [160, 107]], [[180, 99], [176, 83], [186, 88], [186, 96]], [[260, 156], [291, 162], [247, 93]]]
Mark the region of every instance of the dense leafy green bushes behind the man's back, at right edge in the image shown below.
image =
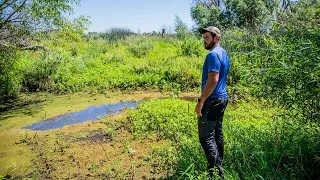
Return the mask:
[[319, 29], [276, 25], [271, 34], [229, 31], [223, 39], [231, 59], [230, 84], [250, 87], [280, 103], [297, 120], [320, 114]]

